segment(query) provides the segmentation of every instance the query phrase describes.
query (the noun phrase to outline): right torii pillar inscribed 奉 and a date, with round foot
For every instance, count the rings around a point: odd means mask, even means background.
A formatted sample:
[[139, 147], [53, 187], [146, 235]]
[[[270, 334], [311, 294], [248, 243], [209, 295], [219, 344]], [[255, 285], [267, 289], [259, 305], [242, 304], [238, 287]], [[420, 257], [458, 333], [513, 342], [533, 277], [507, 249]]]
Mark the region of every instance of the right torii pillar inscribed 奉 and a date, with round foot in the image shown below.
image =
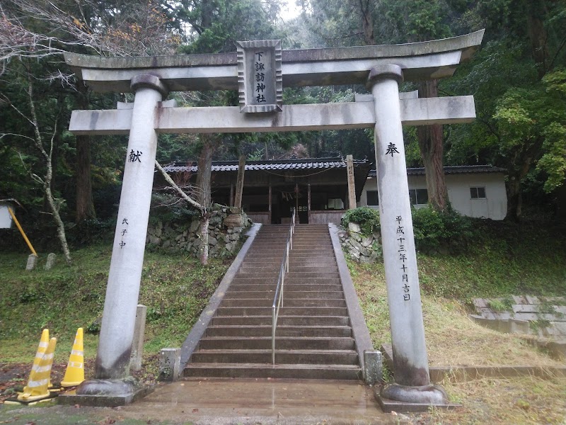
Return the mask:
[[441, 405], [447, 402], [446, 393], [441, 387], [430, 385], [424, 341], [417, 254], [401, 128], [400, 81], [403, 81], [402, 69], [395, 64], [384, 64], [371, 69], [367, 83], [374, 96], [376, 113], [379, 215], [395, 378], [395, 384], [386, 385], [381, 394], [376, 396], [382, 405], [382, 399]]

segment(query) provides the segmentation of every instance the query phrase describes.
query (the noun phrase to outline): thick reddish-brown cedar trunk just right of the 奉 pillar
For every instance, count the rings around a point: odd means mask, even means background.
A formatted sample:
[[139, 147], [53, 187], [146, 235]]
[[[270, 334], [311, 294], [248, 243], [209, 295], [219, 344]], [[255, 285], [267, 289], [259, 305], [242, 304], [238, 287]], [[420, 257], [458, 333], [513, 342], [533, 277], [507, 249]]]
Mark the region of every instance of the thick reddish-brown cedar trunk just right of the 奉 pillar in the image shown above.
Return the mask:
[[[419, 84], [419, 97], [437, 97], [438, 80], [422, 81]], [[444, 179], [444, 137], [442, 126], [420, 125], [417, 127], [420, 155], [424, 164], [424, 173], [427, 178], [427, 191], [429, 203], [437, 211], [449, 208], [446, 179]]]

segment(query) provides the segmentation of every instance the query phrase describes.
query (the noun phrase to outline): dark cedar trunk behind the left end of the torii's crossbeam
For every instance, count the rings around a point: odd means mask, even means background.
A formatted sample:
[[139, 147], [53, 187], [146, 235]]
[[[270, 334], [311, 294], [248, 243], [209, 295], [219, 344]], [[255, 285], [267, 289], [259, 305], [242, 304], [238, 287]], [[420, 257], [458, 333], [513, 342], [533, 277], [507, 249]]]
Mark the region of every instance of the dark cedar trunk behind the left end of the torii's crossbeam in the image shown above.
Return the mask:
[[[88, 109], [87, 88], [78, 84], [79, 107]], [[91, 182], [91, 137], [76, 136], [76, 211], [75, 221], [95, 218], [93, 186]]]

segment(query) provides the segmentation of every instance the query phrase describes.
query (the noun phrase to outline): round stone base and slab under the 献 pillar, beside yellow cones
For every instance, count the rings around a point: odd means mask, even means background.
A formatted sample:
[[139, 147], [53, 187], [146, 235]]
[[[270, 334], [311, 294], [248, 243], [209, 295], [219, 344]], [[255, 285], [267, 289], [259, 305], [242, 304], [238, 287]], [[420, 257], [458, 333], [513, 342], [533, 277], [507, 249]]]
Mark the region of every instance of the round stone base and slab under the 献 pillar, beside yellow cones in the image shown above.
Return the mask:
[[132, 377], [125, 379], [88, 380], [76, 390], [59, 395], [61, 404], [82, 406], [125, 406], [154, 391], [154, 385], [143, 385]]

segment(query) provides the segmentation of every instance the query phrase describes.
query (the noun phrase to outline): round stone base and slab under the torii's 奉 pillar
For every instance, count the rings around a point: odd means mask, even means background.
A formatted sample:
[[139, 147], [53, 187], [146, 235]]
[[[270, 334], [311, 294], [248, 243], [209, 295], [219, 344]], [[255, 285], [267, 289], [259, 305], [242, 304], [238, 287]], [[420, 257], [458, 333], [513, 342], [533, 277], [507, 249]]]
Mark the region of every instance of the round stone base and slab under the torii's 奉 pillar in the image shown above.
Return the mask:
[[374, 387], [374, 397], [383, 412], [415, 413], [427, 412], [430, 407], [454, 409], [461, 404], [448, 402], [446, 392], [438, 385], [406, 387], [405, 385], [387, 384], [381, 389]]

